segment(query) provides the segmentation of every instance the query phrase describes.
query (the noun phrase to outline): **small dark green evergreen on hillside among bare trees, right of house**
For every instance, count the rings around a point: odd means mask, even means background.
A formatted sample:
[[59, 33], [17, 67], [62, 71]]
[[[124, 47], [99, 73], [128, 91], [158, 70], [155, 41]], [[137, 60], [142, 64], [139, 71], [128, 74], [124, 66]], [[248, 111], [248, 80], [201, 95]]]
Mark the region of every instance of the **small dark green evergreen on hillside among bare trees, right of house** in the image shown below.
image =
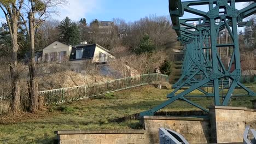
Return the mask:
[[135, 49], [135, 53], [140, 55], [144, 52], [153, 52], [156, 49], [155, 45], [153, 44], [152, 40], [150, 40], [149, 35], [144, 35], [139, 43], [137, 49]]

